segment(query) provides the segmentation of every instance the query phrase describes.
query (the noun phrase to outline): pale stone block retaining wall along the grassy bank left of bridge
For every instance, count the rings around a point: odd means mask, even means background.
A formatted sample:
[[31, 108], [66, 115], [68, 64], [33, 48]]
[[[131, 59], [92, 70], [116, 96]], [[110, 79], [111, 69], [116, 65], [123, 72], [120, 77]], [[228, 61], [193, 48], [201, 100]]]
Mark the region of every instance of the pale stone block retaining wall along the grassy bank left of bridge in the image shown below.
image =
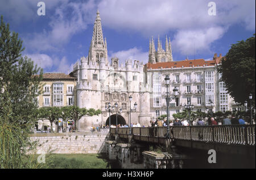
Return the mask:
[[42, 154], [53, 150], [56, 154], [87, 154], [105, 151], [108, 132], [45, 133], [31, 135], [30, 140], [37, 141], [36, 150], [29, 153]]

